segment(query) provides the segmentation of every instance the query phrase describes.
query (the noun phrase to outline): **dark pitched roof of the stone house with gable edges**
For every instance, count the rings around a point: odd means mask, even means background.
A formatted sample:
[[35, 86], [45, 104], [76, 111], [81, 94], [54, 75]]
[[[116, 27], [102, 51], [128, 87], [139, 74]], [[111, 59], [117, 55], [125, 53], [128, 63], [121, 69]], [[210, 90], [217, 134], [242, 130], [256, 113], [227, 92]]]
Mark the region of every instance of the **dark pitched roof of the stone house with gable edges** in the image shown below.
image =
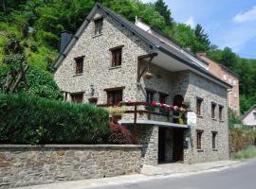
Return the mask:
[[74, 35], [74, 37], [72, 38], [70, 43], [65, 47], [64, 52], [59, 56], [58, 60], [53, 65], [54, 70], [56, 70], [61, 65], [61, 63], [63, 62], [64, 58], [66, 57], [66, 55], [68, 54], [68, 52], [70, 51], [72, 46], [77, 42], [79, 37], [82, 35], [83, 29], [86, 26], [88, 26], [93, 14], [95, 13], [95, 11], [97, 9], [102, 9], [107, 15], [109, 15], [112, 18], [114, 18], [115, 20], [117, 20], [122, 26], [125, 26], [127, 29], [129, 29], [131, 32], [133, 32], [142, 41], [144, 41], [145, 43], [148, 43], [153, 48], [153, 50], [159, 50], [159, 51], [171, 56], [175, 60], [181, 61], [182, 63], [190, 66], [192, 69], [195, 69], [196, 71], [206, 75], [207, 77], [211, 77], [214, 80], [218, 81], [219, 83], [222, 83], [226, 88], [232, 87], [231, 85], [229, 85], [229, 83], [223, 81], [219, 77], [215, 77], [204, 67], [200, 66], [198, 63], [196, 63], [196, 62], [192, 61], [191, 59], [189, 59], [188, 57], [186, 57], [181, 51], [175, 49], [171, 45], [160, 42], [159, 39], [156, 38], [155, 36], [149, 34], [148, 32], [146, 32], [145, 30], [136, 26], [135, 24], [131, 23], [130, 21], [122, 18], [119, 14], [112, 11], [111, 9], [107, 9], [99, 2], [97, 2], [95, 4], [95, 6], [93, 7], [93, 9], [91, 9], [90, 13], [88, 14], [86, 19], [82, 23], [82, 26], [80, 26], [80, 28], [78, 29], [78, 31], [76, 32], [76, 34]]

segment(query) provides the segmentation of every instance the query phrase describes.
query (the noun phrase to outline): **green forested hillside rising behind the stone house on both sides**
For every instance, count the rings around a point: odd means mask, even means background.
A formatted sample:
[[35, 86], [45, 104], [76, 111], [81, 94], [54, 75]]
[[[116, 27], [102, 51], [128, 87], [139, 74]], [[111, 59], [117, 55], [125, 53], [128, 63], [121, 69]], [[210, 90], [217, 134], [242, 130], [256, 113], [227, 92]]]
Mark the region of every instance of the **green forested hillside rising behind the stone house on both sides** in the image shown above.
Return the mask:
[[[1, 69], [9, 62], [6, 48], [10, 36], [14, 36], [24, 49], [28, 65], [51, 72], [50, 67], [59, 55], [60, 33], [64, 30], [75, 33], [95, 0], [2, 0], [0, 3]], [[219, 49], [210, 43], [200, 25], [192, 29], [176, 23], [163, 0], [155, 4], [139, 0], [102, 0], [102, 3], [132, 22], [136, 15], [140, 16], [145, 23], [155, 26], [193, 53], [207, 52], [212, 60], [240, 76], [241, 111], [247, 111], [256, 103], [256, 60], [242, 59], [229, 47]]]

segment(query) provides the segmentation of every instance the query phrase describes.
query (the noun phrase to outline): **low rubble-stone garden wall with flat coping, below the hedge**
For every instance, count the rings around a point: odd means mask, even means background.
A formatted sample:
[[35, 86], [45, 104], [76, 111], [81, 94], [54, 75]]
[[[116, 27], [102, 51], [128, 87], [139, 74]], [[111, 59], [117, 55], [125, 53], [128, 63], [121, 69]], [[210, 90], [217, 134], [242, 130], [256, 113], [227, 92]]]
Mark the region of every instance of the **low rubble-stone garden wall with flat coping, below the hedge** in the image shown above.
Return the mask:
[[140, 172], [141, 146], [0, 145], [0, 188]]

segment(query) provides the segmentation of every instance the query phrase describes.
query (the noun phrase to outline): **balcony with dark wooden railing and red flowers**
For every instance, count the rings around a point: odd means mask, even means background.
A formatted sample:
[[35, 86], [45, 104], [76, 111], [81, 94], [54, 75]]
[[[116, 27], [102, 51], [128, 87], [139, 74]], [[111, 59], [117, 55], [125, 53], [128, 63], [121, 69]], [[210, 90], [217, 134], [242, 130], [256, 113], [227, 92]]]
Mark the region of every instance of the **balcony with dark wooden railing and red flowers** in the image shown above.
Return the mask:
[[108, 109], [112, 117], [118, 117], [123, 124], [155, 123], [173, 126], [186, 126], [187, 110], [157, 102], [119, 102], [118, 106], [98, 105]]

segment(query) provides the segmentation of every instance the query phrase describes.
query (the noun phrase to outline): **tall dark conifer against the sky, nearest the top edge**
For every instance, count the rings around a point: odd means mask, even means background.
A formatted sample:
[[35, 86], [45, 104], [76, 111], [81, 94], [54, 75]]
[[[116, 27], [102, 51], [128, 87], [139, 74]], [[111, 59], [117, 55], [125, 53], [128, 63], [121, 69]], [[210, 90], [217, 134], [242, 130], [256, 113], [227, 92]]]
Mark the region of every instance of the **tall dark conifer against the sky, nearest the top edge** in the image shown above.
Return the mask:
[[163, 0], [157, 0], [155, 2], [155, 10], [158, 11], [162, 17], [164, 17], [165, 24], [167, 26], [174, 26], [174, 19], [171, 16], [172, 12], [170, 9], [168, 9], [168, 6]]

